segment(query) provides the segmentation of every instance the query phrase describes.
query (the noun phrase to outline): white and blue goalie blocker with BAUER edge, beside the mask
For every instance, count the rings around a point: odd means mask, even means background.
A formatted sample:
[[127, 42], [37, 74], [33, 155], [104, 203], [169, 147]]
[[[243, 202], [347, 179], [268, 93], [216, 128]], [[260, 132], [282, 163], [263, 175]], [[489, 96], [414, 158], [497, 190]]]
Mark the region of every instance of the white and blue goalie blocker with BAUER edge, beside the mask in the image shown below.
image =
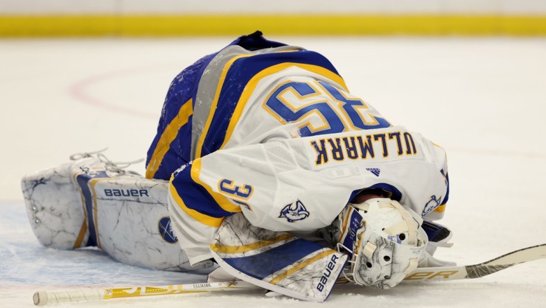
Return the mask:
[[234, 277], [285, 296], [324, 302], [347, 256], [286, 232], [250, 224], [238, 213], [224, 220], [211, 253]]

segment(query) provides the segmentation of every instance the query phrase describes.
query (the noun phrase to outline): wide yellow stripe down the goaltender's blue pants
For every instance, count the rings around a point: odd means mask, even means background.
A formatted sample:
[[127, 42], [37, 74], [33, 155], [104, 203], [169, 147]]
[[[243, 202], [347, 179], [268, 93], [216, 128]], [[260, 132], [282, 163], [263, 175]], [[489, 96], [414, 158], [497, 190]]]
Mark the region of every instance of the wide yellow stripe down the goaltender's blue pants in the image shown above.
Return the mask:
[[189, 117], [193, 114], [193, 102], [191, 99], [186, 101], [182, 108], [180, 108], [177, 116], [170, 121], [168, 126], [165, 128], [157, 145], [155, 146], [154, 153], [150, 157], [150, 162], [146, 168], [146, 178], [154, 178], [157, 169], [161, 165], [165, 154], [170, 149], [170, 144], [176, 139], [178, 135], [178, 130], [188, 123]]

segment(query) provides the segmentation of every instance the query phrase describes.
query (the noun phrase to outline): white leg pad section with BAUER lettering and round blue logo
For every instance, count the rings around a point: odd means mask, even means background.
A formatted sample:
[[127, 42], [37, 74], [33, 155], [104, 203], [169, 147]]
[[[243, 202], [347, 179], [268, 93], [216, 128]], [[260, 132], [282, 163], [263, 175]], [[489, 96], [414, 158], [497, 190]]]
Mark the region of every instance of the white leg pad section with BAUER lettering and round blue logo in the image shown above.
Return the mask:
[[168, 271], [197, 269], [190, 266], [170, 225], [168, 182], [118, 176], [90, 180], [88, 185], [94, 203], [91, 227], [100, 249], [125, 264]]

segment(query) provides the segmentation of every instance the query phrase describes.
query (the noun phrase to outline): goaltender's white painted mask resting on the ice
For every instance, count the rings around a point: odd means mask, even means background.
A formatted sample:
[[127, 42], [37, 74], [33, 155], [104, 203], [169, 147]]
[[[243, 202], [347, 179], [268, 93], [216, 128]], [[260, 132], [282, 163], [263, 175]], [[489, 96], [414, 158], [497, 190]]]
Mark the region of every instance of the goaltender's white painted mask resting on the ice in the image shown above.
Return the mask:
[[337, 248], [349, 255], [354, 282], [365, 286], [396, 286], [417, 268], [428, 243], [423, 219], [388, 198], [349, 203], [337, 223]]

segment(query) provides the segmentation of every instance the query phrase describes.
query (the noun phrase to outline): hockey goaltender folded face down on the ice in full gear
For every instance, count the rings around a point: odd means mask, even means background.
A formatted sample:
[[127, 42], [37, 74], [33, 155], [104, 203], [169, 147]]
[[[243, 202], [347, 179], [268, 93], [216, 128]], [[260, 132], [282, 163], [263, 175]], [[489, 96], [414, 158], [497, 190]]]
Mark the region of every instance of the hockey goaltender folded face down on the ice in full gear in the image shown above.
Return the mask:
[[[202, 291], [259, 286], [317, 302], [340, 280], [389, 289], [545, 254], [537, 246], [473, 268], [435, 259], [452, 235], [435, 222], [450, 193], [443, 148], [351, 95], [323, 55], [260, 32], [184, 69], [168, 89], [146, 177], [123, 167], [82, 153], [25, 176], [39, 241], [206, 272], [210, 284], [192, 286]], [[48, 298], [62, 296], [38, 292], [35, 302]]]

